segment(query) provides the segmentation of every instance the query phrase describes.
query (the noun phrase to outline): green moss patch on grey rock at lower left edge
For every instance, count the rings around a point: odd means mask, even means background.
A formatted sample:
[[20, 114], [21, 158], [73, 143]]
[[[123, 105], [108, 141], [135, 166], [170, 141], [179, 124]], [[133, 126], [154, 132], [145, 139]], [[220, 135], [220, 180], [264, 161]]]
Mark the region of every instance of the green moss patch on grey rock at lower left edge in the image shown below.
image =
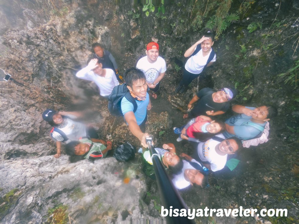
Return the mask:
[[21, 193], [18, 188], [15, 188], [0, 198], [0, 220], [8, 213], [10, 207], [16, 203]]

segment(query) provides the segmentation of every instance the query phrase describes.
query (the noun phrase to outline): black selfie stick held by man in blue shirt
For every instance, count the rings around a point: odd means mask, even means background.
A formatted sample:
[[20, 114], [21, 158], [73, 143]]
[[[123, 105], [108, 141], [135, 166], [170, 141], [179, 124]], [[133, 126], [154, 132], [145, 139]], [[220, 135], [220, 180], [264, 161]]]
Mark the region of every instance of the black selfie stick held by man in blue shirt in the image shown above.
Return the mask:
[[[154, 146], [152, 145], [152, 138], [146, 138], [147, 146], [149, 148], [149, 153], [152, 158], [152, 163], [154, 166], [155, 170], [155, 175], [156, 175], [156, 180], [159, 186], [159, 190], [161, 193], [161, 201], [162, 204], [164, 205], [164, 209], [168, 210], [168, 215], [166, 216], [167, 223], [186, 223], [186, 224], [194, 224], [193, 220], [188, 219], [188, 217], [173, 217], [173, 212], [172, 216], [170, 217], [170, 209], [180, 213], [181, 209], [186, 209], [188, 211], [188, 207], [184, 200], [182, 199], [181, 195], [177, 191], [177, 189], [173, 186], [173, 183], [169, 176], [167, 175], [162, 162], [160, 160], [160, 156], [157, 154]], [[170, 206], [172, 206], [170, 208]]]

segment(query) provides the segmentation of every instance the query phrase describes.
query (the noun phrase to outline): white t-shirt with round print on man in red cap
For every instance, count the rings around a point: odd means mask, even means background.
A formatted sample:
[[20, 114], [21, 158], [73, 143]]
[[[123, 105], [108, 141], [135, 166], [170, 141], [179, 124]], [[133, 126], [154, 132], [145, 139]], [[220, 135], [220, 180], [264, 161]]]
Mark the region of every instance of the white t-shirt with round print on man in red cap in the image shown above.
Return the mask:
[[154, 82], [160, 73], [166, 72], [166, 62], [160, 56], [154, 63], [149, 63], [147, 56], [144, 56], [139, 59], [136, 67], [143, 71], [148, 83]]

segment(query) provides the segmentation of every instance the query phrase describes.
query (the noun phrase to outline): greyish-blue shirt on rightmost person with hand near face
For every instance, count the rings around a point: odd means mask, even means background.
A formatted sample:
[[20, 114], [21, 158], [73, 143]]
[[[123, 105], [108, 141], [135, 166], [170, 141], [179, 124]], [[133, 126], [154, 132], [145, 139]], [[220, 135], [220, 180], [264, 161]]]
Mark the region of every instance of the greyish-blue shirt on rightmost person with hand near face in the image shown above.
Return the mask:
[[[245, 107], [250, 110], [254, 110], [255, 107]], [[234, 126], [234, 132], [235, 134], [228, 133], [225, 131], [223, 135], [226, 138], [230, 138], [233, 136], [236, 136], [238, 139], [246, 140], [246, 139], [251, 139], [260, 134], [260, 131], [257, 130], [256, 128], [249, 126], [249, 125], [242, 125], [244, 122], [252, 122], [250, 119], [252, 116], [247, 116], [244, 113], [238, 114], [237, 116], [233, 116], [225, 121], [226, 124], [230, 126]], [[255, 122], [252, 122], [255, 123]], [[261, 125], [265, 127], [266, 122], [263, 124], [257, 123], [258, 125]]]

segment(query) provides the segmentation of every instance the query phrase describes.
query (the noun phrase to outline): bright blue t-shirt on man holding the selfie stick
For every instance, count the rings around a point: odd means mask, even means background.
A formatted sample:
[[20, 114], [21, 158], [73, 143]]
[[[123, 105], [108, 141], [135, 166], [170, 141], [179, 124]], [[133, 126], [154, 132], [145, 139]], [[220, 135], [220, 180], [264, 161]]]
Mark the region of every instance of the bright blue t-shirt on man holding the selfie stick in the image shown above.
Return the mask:
[[[147, 105], [149, 104], [149, 94], [147, 93], [147, 97], [145, 100], [139, 101], [135, 100], [137, 103], [137, 110], [135, 111], [134, 115], [137, 121], [138, 125], [141, 125], [141, 123], [144, 121], [145, 116], [147, 115]], [[125, 113], [129, 111], [134, 111], [134, 106], [129, 100], [126, 99], [126, 97], [123, 97], [121, 99], [120, 103], [121, 112], [123, 113], [123, 116]], [[127, 123], [128, 124], [128, 123]]]

